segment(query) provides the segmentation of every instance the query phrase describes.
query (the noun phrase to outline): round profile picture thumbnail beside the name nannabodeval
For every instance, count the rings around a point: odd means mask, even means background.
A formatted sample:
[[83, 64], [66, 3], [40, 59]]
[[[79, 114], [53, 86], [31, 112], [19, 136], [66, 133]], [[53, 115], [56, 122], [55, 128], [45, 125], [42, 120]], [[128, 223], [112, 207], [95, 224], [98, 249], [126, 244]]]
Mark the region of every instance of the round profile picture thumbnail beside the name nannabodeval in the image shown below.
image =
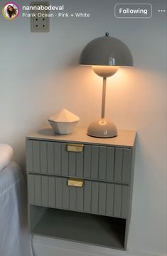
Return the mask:
[[9, 2], [4, 4], [3, 9], [2, 9], [2, 14], [6, 19], [9, 20], [14, 20], [17, 18], [20, 10], [18, 8], [18, 5], [15, 4], [14, 2]]

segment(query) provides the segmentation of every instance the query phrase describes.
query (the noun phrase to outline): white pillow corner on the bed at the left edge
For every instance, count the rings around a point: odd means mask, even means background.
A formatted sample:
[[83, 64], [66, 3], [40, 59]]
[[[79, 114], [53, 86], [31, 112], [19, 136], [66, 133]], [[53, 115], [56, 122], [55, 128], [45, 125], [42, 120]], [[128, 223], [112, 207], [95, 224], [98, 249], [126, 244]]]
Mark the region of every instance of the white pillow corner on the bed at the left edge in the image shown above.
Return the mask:
[[13, 155], [14, 150], [10, 145], [0, 143], [0, 171], [11, 162]]

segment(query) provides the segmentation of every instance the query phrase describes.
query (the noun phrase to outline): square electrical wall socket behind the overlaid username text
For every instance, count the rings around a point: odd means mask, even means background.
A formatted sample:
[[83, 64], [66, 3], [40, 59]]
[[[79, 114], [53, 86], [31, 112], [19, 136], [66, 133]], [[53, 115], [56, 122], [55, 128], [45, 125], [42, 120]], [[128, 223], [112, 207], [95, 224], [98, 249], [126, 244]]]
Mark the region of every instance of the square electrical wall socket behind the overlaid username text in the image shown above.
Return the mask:
[[[49, 2], [48, 1], [31, 2], [31, 6], [49, 6]], [[31, 14], [36, 15], [34, 17], [31, 17], [31, 31], [32, 32], [48, 32], [48, 31], [50, 31], [50, 18], [43, 16], [48, 13], [49, 13], [48, 10], [47, 11], [46, 10], [31, 11]]]

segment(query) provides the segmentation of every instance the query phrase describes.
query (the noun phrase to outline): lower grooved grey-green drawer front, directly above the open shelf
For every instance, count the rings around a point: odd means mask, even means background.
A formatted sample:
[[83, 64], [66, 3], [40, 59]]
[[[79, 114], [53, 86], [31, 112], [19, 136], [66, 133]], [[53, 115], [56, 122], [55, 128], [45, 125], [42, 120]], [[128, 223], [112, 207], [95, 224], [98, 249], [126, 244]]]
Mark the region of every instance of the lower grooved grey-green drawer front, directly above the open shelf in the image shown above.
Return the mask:
[[68, 178], [28, 174], [28, 203], [126, 218], [129, 186], [84, 180], [77, 188], [68, 185]]

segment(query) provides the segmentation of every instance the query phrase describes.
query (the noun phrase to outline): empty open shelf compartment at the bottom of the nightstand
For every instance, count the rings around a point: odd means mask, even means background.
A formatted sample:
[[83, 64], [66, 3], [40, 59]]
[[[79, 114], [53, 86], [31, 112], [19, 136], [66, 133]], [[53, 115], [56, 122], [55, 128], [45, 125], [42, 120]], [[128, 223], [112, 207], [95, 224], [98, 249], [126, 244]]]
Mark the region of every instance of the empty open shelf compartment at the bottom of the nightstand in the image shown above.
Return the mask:
[[30, 205], [31, 233], [124, 250], [126, 220]]

